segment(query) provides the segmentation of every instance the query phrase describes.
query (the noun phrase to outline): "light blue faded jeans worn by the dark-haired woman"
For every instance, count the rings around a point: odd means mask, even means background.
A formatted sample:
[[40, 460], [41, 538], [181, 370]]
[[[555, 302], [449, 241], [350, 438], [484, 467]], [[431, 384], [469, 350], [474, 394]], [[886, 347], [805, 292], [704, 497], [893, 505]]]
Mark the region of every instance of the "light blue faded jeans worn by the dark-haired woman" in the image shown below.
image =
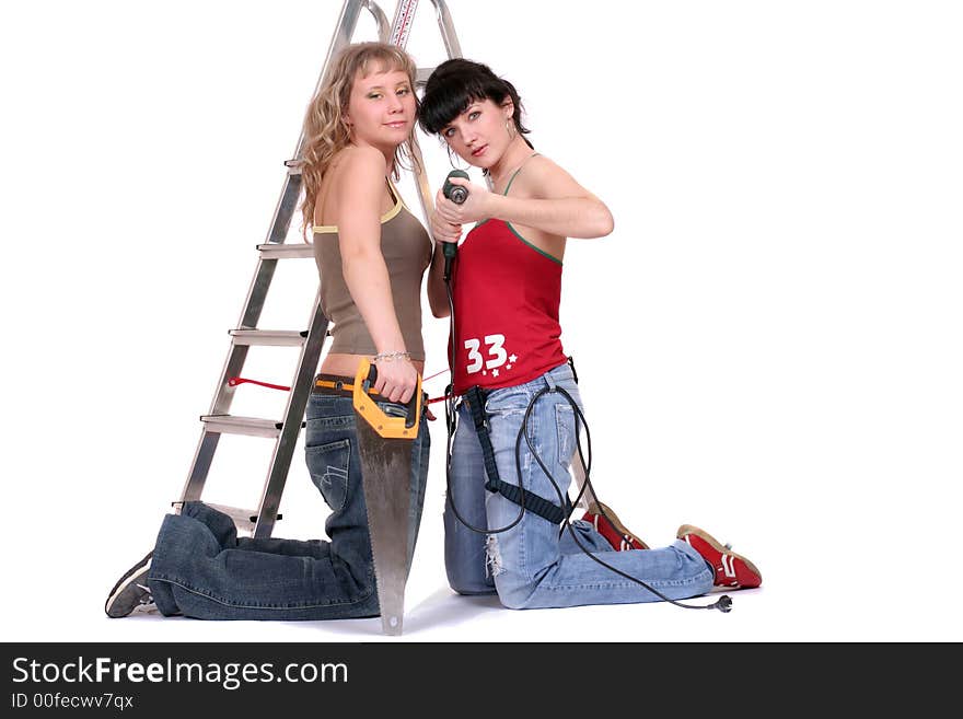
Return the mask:
[[[541, 390], [562, 389], [581, 408], [579, 389], [568, 364], [532, 382], [491, 392], [485, 411], [502, 482], [518, 485], [515, 439], [525, 410]], [[566, 494], [569, 465], [576, 451], [576, 413], [558, 392], [543, 395], [529, 418], [526, 431], [538, 456]], [[558, 495], [545, 472], [521, 441], [521, 474], [525, 489], [558, 505]], [[476, 527], [489, 530], [511, 524], [519, 505], [485, 489], [481, 445], [466, 403], [459, 407], [452, 449], [451, 487], [444, 509], [444, 560], [449, 583], [461, 594], [498, 592], [509, 608], [579, 606], [655, 602], [649, 590], [600, 565], [583, 553], [568, 530], [559, 537], [557, 524], [525, 511], [512, 529], [480, 534], [464, 526], [451, 507]], [[653, 587], [670, 599], [704, 594], [713, 573], [705, 559], [685, 542], [659, 549], [615, 552], [589, 522], [572, 522], [579, 542], [594, 557]]]

